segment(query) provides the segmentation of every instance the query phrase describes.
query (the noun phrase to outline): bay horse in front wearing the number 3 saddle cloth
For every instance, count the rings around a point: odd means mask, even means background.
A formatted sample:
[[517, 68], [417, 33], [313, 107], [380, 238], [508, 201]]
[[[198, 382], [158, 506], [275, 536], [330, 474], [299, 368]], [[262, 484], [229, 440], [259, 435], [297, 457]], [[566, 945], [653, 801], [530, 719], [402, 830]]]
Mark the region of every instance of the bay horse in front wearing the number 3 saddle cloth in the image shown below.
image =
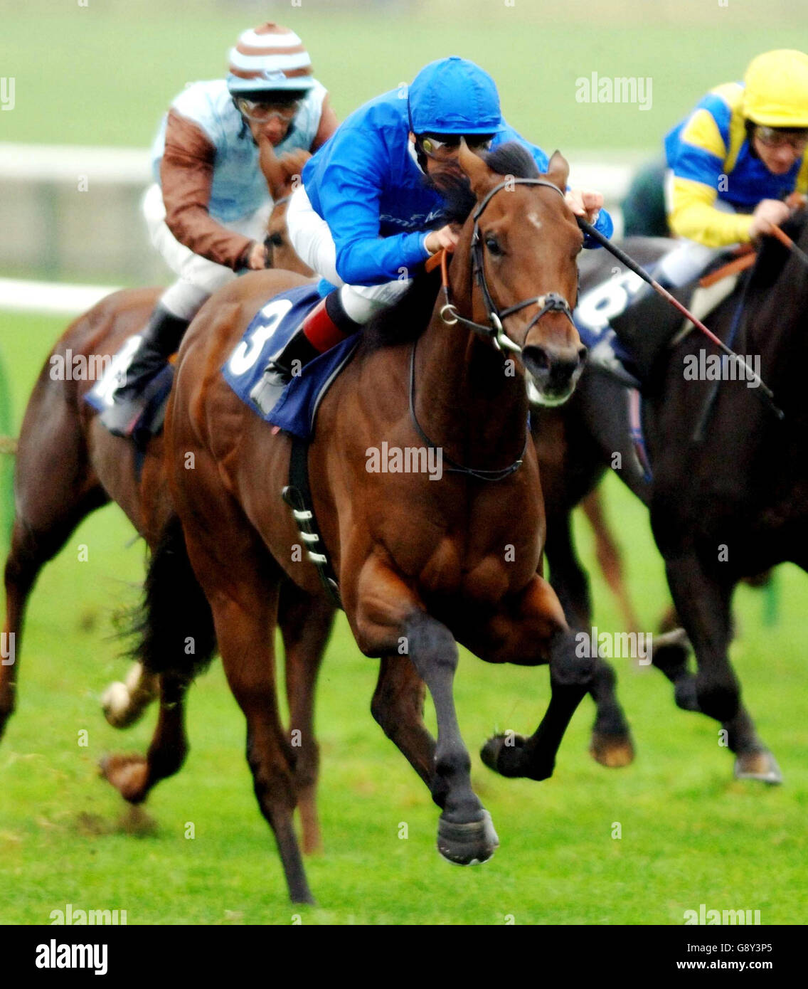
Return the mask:
[[[539, 176], [513, 145], [484, 160], [464, 144], [459, 163], [475, 205], [448, 270], [450, 309], [436, 299], [436, 275], [421, 276], [366, 329], [319, 405], [309, 468], [351, 631], [366, 656], [381, 660], [373, 715], [441, 810], [440, 854], [470, 864], [498, 842], [472, 790], [455, 713], [457, 643], [493, 663], [549, 663], [552, 696], [538, 729], [483, 749], [484, 762], [506, 776], [551, 775], [594, 664], [576, 654], [555, 592], [537, 574], [544, 517], [524, 380], [527, 369], [547, 401], [560, 402], [583, 367], [571, 318], [583, 235], [564, 199], [568, 166], [557, 152]], [[140, 655], [164, 674], [203, 664], [199, 650], [189, 658], [182, 649], [197, 612], [183, 607], [194, 593], [181, 584], [195, 577], [246, 718], [255, 793], [290, 896], [311, 902], [292, 828], [295, 752], [278, 717], [271, 630], [284, 577], [322, 591], [314, 566], [294, 551], [300, 535], [282, 499], [291, 441], [220, 373], [268, 290], [295, 284], [283, 272], [246, 275], [203, 307], [183, 340], [165, 421], [177, 518], [151, 559]], [[494, 343], [520, 359], [504, 360]], [[366, 469], [383, 442], [403, 449], [427, 434], [450, 467], [440, 481]], [[193, 470], [184, 466], [190, 455]], [[422, 720], [423, 684], [437, 741]]]

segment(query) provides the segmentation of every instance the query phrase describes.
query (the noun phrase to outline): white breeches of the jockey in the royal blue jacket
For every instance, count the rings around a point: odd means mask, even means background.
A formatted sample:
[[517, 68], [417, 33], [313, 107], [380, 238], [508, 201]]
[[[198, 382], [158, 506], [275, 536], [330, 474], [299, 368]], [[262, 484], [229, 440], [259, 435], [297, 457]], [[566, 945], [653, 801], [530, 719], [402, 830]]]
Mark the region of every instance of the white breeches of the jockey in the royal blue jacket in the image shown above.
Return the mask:
[[292, 194], [286, 224], [289, 239], [301, 260], [320, 278], [340, 287], [342, 308], [354, 322], [368, 322], [379, 310], [392, 306], [411, 283], [411, 279], [401, 279], [384, 285], [345, 285], [336, 273], [334, 238], [325, 221], [314, 212], [303, 186], [299, 186]]

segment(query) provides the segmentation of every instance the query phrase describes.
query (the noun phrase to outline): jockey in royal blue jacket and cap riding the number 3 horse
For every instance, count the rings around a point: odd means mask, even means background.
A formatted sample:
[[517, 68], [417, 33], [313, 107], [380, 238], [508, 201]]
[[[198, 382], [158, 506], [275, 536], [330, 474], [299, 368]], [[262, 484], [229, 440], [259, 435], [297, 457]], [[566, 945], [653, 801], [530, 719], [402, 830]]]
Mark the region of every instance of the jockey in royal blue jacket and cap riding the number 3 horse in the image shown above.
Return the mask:
[[[457, 171], [461, 136], [473, 150], [519, 141], [539, 171], [547, 171], [544, 151], [502, 120], [492, 77], [457, 56], [431, 62], [409, 87], [360, 107], [310, 159], [289, 204], [289, 236], [301, 259], [338, 291], [275, 355], [267, 387], [356, 332], [404, 293], [407, 274], [455, 246], [452, 226], [433, 228], [443, 206], [434, 183], [441, 172]], [[575, 213], [611, 234], [599, 193], [571, 191], [567, 199]]]

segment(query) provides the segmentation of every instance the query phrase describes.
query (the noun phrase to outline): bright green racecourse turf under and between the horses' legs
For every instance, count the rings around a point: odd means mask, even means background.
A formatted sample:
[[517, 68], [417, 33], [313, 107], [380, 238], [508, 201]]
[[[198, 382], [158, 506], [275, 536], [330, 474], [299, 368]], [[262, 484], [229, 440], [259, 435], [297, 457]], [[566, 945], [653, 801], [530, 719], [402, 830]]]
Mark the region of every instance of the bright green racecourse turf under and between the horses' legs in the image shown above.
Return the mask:
[[[0, 315], [13, 369], [17, 422], [62, 323]], [[666, 602], [644, 510], [610, 479], [609, 514], [623, 542], [644, 627]], [[579, 520], [584, 559], [591, 560]], [[463, 655], [457, 704], [473, 781], [500, 848], [461, 869], [435, 851], [437, 810], [369, 712], [377, 664], [362, 658], [340, 618], [317, 697], [322, 747], [324, 854], [308, 863], [319, 906], [287, 901], [270, 832], [243, 757], [244, 721], [216, 663], [190, 694], [191, 754], [133, 821], [96, 762], [142, 751], [153, 713], [126, 736], [107, 726], [99, 695], [127, 664], [111, 639], [114, 609], [131, 604], [140, 544], [114, 506], [88, 519], [45, 569], [21, 654], [20, 705], [0, 746], [0, 922], [47, 923], [51, 910], [128, 911], [130, 924], [407, 923], [681, 924], [698, 909], [758, 909], [763, 924], [804, 923], [808, 728], [804, 718], [804, 576], [777, 575], [779, 621], [763, 624], [763, 597], [742, 588], [733, 660], [763, 738], [786, 783], [732, 780], [717, 725], [674, 708], [654, 671], [617, 661], [620, 696], [638, 758], [605, 769], [586, 754], [584, 701], [543, 783], [499, 778], [477, 757], [494, 728], [532, 730], [548, 698], [546, 669], [494, 668]], [[89, 559], [78, 561], [80, 544]], [[617, 630], [595, 578], [596, 623]], [[432, 721], [430, 705], [428, 716]], [[78, 745], [88, 733], [87, 747]], [[193, 822], [196, 837], [184, 837]], [[408, 837], [399, 838], [405, 823]], [[614, 822], [622, 838], [612, 839]], [[135, 832], [135, 833], [133, 833]]]

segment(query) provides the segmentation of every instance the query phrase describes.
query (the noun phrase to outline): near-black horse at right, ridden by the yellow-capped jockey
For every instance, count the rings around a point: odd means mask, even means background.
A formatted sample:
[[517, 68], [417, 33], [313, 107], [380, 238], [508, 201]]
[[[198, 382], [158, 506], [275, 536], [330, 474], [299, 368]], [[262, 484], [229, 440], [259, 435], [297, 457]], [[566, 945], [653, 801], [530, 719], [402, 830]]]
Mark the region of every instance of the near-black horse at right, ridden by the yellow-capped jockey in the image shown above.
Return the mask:
[[[791, 226], [794, 239], [808, 247], [804, 210]], [[708, 320], [722, 339], [742, 291], [739, 285]], [[645, 403], [651, 483], [644, 481], [632, 452], [627, 392], [597, 370], [584, 373], [568, 405], [539, 414], [536, 437], [552, 537], [547, 558], [571, 623], [587, 624], [589, 604], [583, 571], [565, 537], [569, 512], [619, 452], [618, 476], [651, 509], [654, 537], [697, 673], [688, 671], [683, 647], [660, 650], [655, 665], [673, 681], [679, 707], [721, 723], [736, 755], [736, 776], [779, 782], [777, 764], [741, 701], [727, 649], [736, 585], [778, 563], [808, 566], [808, 401], [802, 381], [808, 358], [808, 272], [796, 256], [766, 238], [745, 291], [734, 346], [760, 356], [763, 381], [785, 413], [782, 420], [761, 392], [744, 382], [724, 381], [714, 394], [713, 382], [685, 380], [685, 359], [697, 358], [702, 349], [715, 353], [704, 337], [691, 332], [670, 352]]]

